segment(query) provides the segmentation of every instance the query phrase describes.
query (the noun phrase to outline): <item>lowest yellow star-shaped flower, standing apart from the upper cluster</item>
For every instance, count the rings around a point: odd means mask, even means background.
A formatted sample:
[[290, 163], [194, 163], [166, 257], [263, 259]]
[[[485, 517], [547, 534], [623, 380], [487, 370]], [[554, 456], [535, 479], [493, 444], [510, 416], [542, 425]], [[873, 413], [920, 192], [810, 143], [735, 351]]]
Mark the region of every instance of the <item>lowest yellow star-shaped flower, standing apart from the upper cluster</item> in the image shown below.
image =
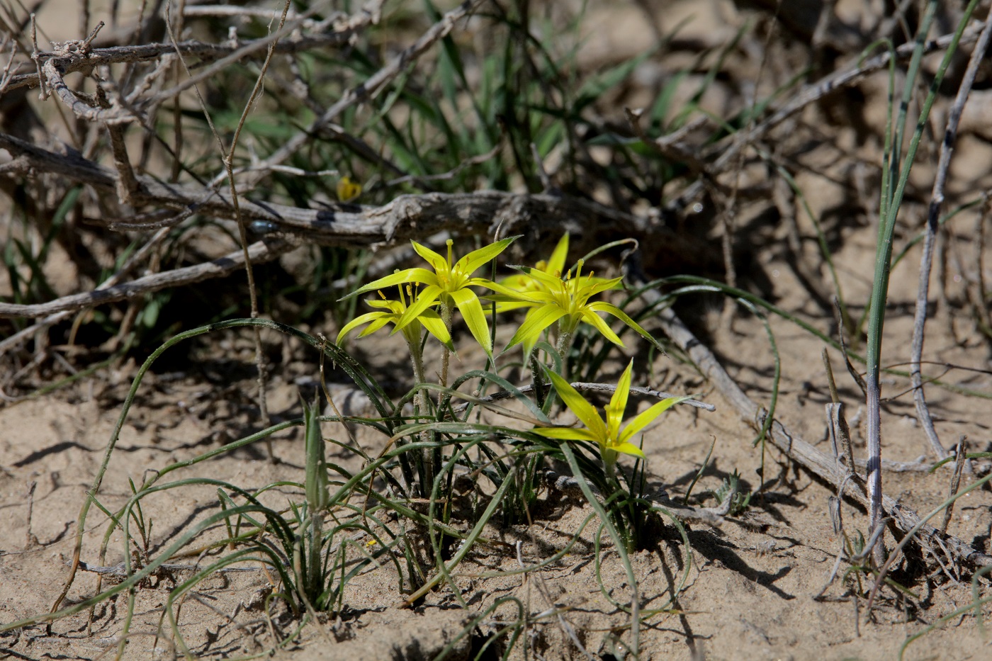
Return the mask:
[[682, 402], [688, 397], [669, 397], [658, 402], [644, 413], [639, 414], [630, 421], [622, 430], [623, 414], [627, 408], [627, 399], [630, 396], [631, 370], [634, 361], [631, 360], [620, 376], [617, 389], [610, 398], [610, 403], [606, 406], [606, 420], [600, 417], [596, 407], [590, 404], [578, 391], [561, 378], [554, 371], [545, 368], [548, 375], [555, 384], [555, 390], [565, 406], [571, 409], [575, 417], [585, 425], [585, 429], [574, 427], [544, 427], [535, 429], [534, 433], [549, 439], [560, 439], [563, 441], [592, 441], [600, 449], [603, 462], [612, 465], [616, 462], [617, 453], [633, 455], [644, 458], [641, 449], [630, 442], [630, 440], [641, 430], [647, 427], [662, 413], [672, 408], [675, 404]]

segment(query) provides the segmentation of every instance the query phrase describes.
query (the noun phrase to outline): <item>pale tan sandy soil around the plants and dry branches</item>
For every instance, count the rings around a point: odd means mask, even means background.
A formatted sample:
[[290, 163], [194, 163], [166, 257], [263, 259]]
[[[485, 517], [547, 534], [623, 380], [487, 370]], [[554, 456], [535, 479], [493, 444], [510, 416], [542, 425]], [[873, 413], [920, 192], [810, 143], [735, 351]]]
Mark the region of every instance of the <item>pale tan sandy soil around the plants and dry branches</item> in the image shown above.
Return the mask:
[[[719, 24], [732, 8], [720, 3], [680, 3], [679, 12], [687, 12], [689, 4], [719, 11], [710, 17], [710, 23], [702, 24], [703, 28], [689, 24], [683, 38], [723, 39], [705, 26]], [[673, 14], [671, 20], [675, 22], [681, 15]], [[622, 59], [626, 57], [623, 48], [645, 38], [648, 27], [641, 25], [643, 21], [639, 23], [637, 11], [608, 16], [601, 20], [615, 23], [596, 33], [601, 42], [590, 40], [589, 52], [583, 56], [590, 61], [601, 62], [606, 57], [604, 53]], [[634, 31], [629, 40], [608, 39], [624, 34], [624, 30]], [[742, 70], [746, 68], [742, 66]], [[641, 73], [649, 75], [651, 71]], [[866, 89], [869, 93], [878, 92], [883, 84], [881, 78], [869, 81]], [[721, 94], [721, 89], [714, 85], [704, 105], [723, 116], [729, 92]], [[628, 93], [636, 98], [639, 90]], [[826, 126], [823, 117], [828, 113], [820, 112], [811, 108], [808, 119]], [[829, 130], [832, 135], [815, 141], [803, 152], [797, 181], [813, 212], [828, 225], [841, 287], [847, 301], [852, 302], [852, 311], [860, 314], [855, 304], [865, 301], [870, 289], [876, 229], [868, 219], [853, 217], [850, 205], [838, 200], [859, 195], [854, 180], [861, 171], [852, 163], [862, 159], [877, 162], [878, 147], [870, 141], [861, 142], [855, 127], [829, 126]], [[796, 138], [801, 139], [805, 138]], [[784, 149], [791, 147], [787, 143], [783, 140]], [[988, 188], [988, 156], [988, 145], [982, 139], [974, 134], [962, 137], [952, 170], [956, 193]], [[749, 171], [744, 177], [759, 175]], [[921, 191], [929, 190], [931, 175], [927, 167], [921, 168]], [[908, 202], [910, 219], [897, 249], [915, 234], [922, 207], [917, 200]], [[798, 244], [791, 241], [792, 218], [789, 222], [772, 222], [763, 214], [767, 210], [759, 206], [738, 219], [735, 249], [740, 255], [739, 277], [745, 286], [760, 291], [784, 310], [829, 331], [829, 310], [817, 296], [830, 288], [825, 270], [805, 266], [818, 265], [819, 261], [802, 206], [797, 202], [793, 209]], [[967, 264], [980, 263], [974, 258], [971, 243], [973, 222], [967, 219], [948, 224], [949, 241], [954, 246], [951, 256]], [[985, 222], [987, 225], [988, 220]], [[714, 252], [719, 251], [718, 231], [714, 230], [706, 240]], [[909, 359], [919, 259], [919, 248], [910, 251], [893, 277], [885, 327], [886, 364], [897, 365]], [[992, 255], [984, 255], [984, 264], [992, 264]], [[930, 373], [938, 372], [943, 363], [984, 370], [952, 369], [943, 378], [989, 393], [992, 379], [988, 370], [992, 362], [988, 338], [975, 329], [970, 312], [961, 304], [968, 286], [968, 278], [962, 280], [961, 273], [967, 268], [971, 267], [959, 269], [959, 264], [955, 266], [954, 259], [950, 259], [945, 297], [951, 305], [937, 302], [934, 293], [935, 315], [928, 326], [925, 357], [937, 363], [931, 365]], [[988, 266], [985, 268], [988, 271]], [[984, 277], [988, 279], [990, 275], [985, 273]], [[767, 403], [773, 356], [764, 327], [741, 313], [731, 328], [725, 328], [721, 322], [722, 305], [719, 299], [698, 297], [682, 305], [680, 312], [748, 394]], [[829, 393], [819, 359], [822, 344], [786, 321], [773, 319], [771, 325], [781, 352], [783, 374], [776, 416], [806, 441], [829, 452], [823, 412]], [[275, 419], [299, 416], [298, 393], [312, 392], [316, 356], [274, 335], [267, 335], [266, 341], [272, 349], [270, 354], [282, 356], [273, 365], [270, 410]], [[370, 339], [358, 347], [362, 359], [368, 360], [384, 381], [402, 384], [407, 379], [405, 364], [397, 357], [402, 357], [402, 343]], [[147, 471], [192, 459], [257, 429], [250, 336], [235, 332], [210, 335], [190, 342], [188, 351], [191, 361], [175, 358], [177, 366], [173, 368], [174, 358], [167, 356], [163, 366], [143, 383], [100, 487], [100, 502], [105, 507], [112, 510], [127, 500], [129, 479], [141, 482]], [[712, 443], [711, 460], [693, 488], [690, 502], [714, 505], [709, 493], [735, 470], [742, 476], [743, 489], [755, 492], [747, 511], [728, 517], [719, 527], [686, 525], [687, 545], [669, 522], [649, 549], [633, 557], [640, 607], [662, 609], [646, 618], [641, 627], [642, 659], [890, 659], [900, 654], [909, 636], [927, 631], [930, 625], [937, 626], [907, 648], [906, 658], [989, 658], [992, 652], [979, 627], [980, 618], [973, 611], [943, 620], [971, 602], [974, 568], [955, 566], [939, 554], [935, 557], [943, 567], [932, 557], [926, 562], [901, 565], [893, 579], [912, 595], [883, 589], [870, 616], [866, 616], [863, 598], [852, 596], [853, 578], [828, 581], [842, 543], [831, 524], [828, 499], [834, 491], [830, 485], [811, 477], [773, 449], [764, 453], [762, 482], [762, 450], [752, 445], [755, 432], [748, 421], [740, 420], [690, 366], [664, 356], [649, 365], [646, 352], [635, 355], [639, 373], [653, 375], [653, 387], [701, 393], [703, 399], [716, 406], [712, 413], [675, 410], [649, 430], [645, 451], [650, 486], [664, 489], [678, 499], [702, 466]], [[465, 364], [477, 366], [478, 358], [477, 352], [473, 354], [468, 348], [462, 352]], [[852, 421], [855, 448], [863, 454], [863, 434], [858, 425], [863, 422], [860, 392], [844, 373], [838, 354], [831, 352], [831, 358], [840, 396]], [[619, 369], [614, 364], [604, 380], [615, 378]], [[103, 369], [54, 394], [0, 408], [0, 622], [44, 613], [61, 593], [68, 577], [78, 509], [102, 460], [134, 373], [133, 362]], [[332, 374], [331, 380], [335, 378]], [[343, 383], [332, 389], [341, 396], [348, 394]], [[992, 450], [992, 407], [987, 399], [969, 398], [935, 386], [927, 392], [945, 446], [966, 436], [970, 451]], [[899, 462], [913, 462], [921, 456], [932, 460], [916, 421], [907, 379], [887, 377], [884, 395], [885, 457]], [[355, 406], [360, 407], [360, 403]], [[328, 425], [324, 436], [344, 439], [346, 435], [342, 429]], [[360, 435], [358, 441], [373, 452], [384, 445], [383, 438], [370, 434]], [[273, 450], [278, 463], [270, 462], [264, 446], [256, 444], [190, 466], [173, 476], [220, 478], [247, 489], [278, 480], [302, 480], [302, 434], [295, 430], [278, 434]], [[333, 461], [347, 468], [358, 465], [353, 455], [343, 451], [333, 455]], [[976, 469], [985, 474], [989, 466], [979, 462]], [[926, 513], [947, 497], [949, 476], [946, 468], [932, 474], [887, 471], [884, 489], [906, 507]], [[483, 484], [481, 488], [489, 486]], [[299, 489], [287, 486], [270, 491], [265, 501], [285, 507], [300, 497]], [[144, 515], [154, 521], [148, 552], [154, 556], [215, 512], [217, 506], [216, 491], [207, 486], [170, 490], [148, 498]], [[867, 532], [863, 509], [844, 501], [841, 510], [848, 533]], [[628, 603], [630, 587], [608, 541], [604, 541], [598, 554], [601, 568], [597, 580], [596, 527], [594, 523], [582, 527], [590, 512], [580, 499], [546, 491], [535, 508], [531, 525], [487, 529], [486, 536], [499, 544], [480, 544], [459, 566], [453, 577], [458, 595], [451, 587], [443, 587], [414, 608], [404, 607], [403, 595], [397, 589], [399, 578], [391, 565], [363, 573], [349, 583], [346, 608], [338, 616], [310, 623], [296, 641], [278, 649], [275, 658], [413, 661], [434, 658], [448, 644], [451, 650], [447, 658], [473, 658], [487, 636], [518, 617], [517, 602], [530, 614], [531, 621], [521, 631], [511, 658], [622, 658], [617, 641], [632, 644], [627, 628], [630, 617], [614, 602]], [[106, 518], [93, 510], [83, 532], [85, 563], [100, 565], [99, 548], [106, 528]], [[992, 491], [985, 488], [964, 496], [957, 503], [947, 532], [989, 553]], [[221, 534], [221, 530], [208, 531], [204, 539]], [[515, 570], [520, 562], [539, 563], [558, 553], [574, 535], [578, 541], [568, 554], [539, 571], [483, 576]], [[892, 547], [891, 537], [887, 544]], [[122, 562], [125, 548], [121, 535], [111, 534], [103, 564]], [[175, 562], [192, 565], [196, 561], [193, 553]], [[847, 567], [841, 564], [841, 573]], [[163, 616], [172, 589], [185, 580], [184, 572], [177, 569], [156, 577], [136, 591], [134, 621], [122, 658], [173, 657], [176, 636], [168, 620], [163, 623]], [[66, 603], [95, 594], [98, 576], [81, 572]], [[681, 583], [682, 590], [672, 602], [673, 589]], [[985, 582], [979, 585], [982, 595], [986, 595]], [[176, 630], [188, 649], [202, 658], [240, 658], [273, 649], [287, 640], [299, 622], [285, 613], [277, 613], [279, 616], [274, 618], [266, 615], [260, 604], [269, 587], [268, 577], [261, 571], [211, 576], [186, 597]], [[91, 616], [83, 611], [54, 622], [51, 628], [37, 625], [2, 634], [0, 654], [19, 659], [111, 658], [119, 643], [125, 600], [126, 595], [118, 595], [98, 606]], [[502, 605], [487, 610], [500, 600]], [[988, 607], [981, 614], [985, 612]], [[484, 614], [479, 618], [480, 613]], [[470, 633], [463, 635], [466, 630]], [[482, 658], [499, 658], [503, 651], [499, 645], [505, 640]]]

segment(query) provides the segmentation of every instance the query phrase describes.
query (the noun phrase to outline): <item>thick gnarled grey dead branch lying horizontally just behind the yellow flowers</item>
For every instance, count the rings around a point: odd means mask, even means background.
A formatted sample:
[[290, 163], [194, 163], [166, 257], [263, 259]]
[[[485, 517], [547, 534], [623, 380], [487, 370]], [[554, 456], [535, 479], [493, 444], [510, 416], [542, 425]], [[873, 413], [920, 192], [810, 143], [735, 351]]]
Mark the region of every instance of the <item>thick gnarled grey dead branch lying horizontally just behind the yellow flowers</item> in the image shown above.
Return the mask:
[[[83, 159], [75, 152], [57, 154], [4, 133], [0, 133], [0, 149], [6, 149], [15, 159], [24, 157], [20, 161], [22, 169], [61, 175], [116, 193], [117, 173]], [[234, 206], [225, 192], [167, 184], [145, 176], [138, 177], [137, 181], [138, 190], [132, 194], [136, 205], [190, 210], [217, 218], [235, 217]], [[530, 236], [545, 229], [554, 228], [558, 233], [562, 228], [570, 228], [575, 234], [585, 234], [589, 239], [600, 234], [606, 237], [621, 233], [634, 238], [651, 235], [655, 240], [675, 242], [674, 247], [680, 241], [675, 232], [656, 219], [569, 197], [482, 191], [407, 195], [379, 207], [333, 204], [324, 209], [246, 198], [239, 202], [241, 213], [248, 222], [264, 220], [272, 223], [273, 229], [281, 234], [341, 247], [378, 247], [444, 230], [453, 234], [485, 234], [501, 223], [504, 233], [513, 230]], [[682, 248], [691, 249], [684, 245]]]

